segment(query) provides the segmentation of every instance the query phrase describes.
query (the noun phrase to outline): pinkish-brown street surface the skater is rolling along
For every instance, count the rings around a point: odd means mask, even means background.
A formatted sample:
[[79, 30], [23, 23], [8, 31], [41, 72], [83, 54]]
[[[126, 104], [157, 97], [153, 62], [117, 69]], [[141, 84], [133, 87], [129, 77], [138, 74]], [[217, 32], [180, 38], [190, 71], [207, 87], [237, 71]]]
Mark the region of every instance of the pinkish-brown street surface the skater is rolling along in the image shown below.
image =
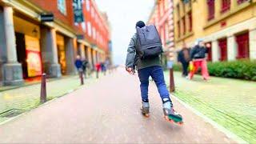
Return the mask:
[[154, 82], [150, 82], [149, 95], [150, 118], [145, 118], [139, 110], [137, 76], [118, 68], [90, 86], [6, 122], [0, 126], [0, 142], [235, 142], [174, 99], [184, 125], [166, 122]]

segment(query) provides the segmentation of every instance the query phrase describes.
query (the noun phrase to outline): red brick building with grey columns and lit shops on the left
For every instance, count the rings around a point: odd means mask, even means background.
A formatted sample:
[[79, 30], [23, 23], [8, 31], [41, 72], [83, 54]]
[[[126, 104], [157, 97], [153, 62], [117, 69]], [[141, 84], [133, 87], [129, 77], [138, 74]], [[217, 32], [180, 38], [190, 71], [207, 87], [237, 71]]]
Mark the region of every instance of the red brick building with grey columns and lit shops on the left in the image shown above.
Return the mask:
[[[84, 22], [74, 22], [74, 0], [0, 0], [0, 85], [75, 74], [77, 54], [96, 62], [110, 58], [110, 30], [94, 1], [81, 0]], [[40, 15], [54, 14], [53, 22]]]

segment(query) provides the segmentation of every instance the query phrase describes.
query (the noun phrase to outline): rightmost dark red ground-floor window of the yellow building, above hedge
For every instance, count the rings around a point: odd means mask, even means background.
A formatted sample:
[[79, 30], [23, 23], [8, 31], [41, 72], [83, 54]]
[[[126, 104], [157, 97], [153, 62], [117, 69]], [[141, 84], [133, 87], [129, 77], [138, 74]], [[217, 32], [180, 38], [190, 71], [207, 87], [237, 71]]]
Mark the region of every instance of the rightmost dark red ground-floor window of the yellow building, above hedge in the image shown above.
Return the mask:
[[240, 34], [236, 37], [238, 44], [238, 55], [237, 58], [249, 58], [249, 33]]

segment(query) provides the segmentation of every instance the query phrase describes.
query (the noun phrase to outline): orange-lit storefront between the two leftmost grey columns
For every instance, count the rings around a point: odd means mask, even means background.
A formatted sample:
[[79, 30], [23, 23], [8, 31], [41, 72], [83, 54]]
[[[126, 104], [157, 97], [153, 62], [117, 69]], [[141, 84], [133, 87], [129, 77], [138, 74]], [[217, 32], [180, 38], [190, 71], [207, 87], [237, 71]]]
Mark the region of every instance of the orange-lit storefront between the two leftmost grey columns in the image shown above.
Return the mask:
[[42, 74], [40, 28], [33, 22], [14, 16], [14, 31], [18, 62], [22, 64], [23, 78]]

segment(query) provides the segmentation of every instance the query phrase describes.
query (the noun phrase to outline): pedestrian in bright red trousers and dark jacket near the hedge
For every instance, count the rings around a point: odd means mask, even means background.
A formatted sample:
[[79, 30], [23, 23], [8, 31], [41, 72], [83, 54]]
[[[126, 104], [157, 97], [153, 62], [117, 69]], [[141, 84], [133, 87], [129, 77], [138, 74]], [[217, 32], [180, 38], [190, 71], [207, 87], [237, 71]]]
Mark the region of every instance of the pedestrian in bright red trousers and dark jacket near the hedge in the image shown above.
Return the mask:
[[193, 64], [193, 69], [190, 70], [189, 79], [192, 79], [194, 73], [198, 71], [198, 68], [201, 67], [202, 78], [204, 80], [209, 80], [210, 76], [207, 69], [207, 62], [206, 62], [206, 53], [208, 50], [203, 43], [202, 39], [198, 39], [195, 42], [194, 48], [190, 52], [190, 58], [192, 60], [191, 64]]

